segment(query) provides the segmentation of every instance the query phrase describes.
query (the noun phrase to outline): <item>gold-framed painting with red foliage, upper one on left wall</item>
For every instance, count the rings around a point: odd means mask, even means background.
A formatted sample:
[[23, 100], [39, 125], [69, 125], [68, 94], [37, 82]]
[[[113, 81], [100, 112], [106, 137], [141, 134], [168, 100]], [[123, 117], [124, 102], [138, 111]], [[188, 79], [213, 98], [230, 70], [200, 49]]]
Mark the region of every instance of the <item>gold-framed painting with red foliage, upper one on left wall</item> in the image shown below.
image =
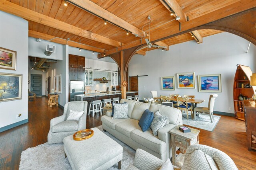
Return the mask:
[[0, 68], [16, 70], [17, 52], [0, 47]]

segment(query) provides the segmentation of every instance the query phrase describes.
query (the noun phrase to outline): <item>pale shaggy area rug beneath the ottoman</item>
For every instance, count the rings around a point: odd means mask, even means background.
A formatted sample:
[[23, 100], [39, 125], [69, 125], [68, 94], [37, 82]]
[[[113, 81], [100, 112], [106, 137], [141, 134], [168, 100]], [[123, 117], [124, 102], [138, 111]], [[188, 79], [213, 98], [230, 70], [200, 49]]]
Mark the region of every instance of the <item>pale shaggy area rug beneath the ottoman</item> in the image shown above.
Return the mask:
[[[102, 126], [97, 127], [103, 131]], [[104, 132], [123, 147], [122, 170], [133, 163], [135, 150], [116, 139], [108, 132]], [[100, 159], [100, 158], [99, 158]], [[21, 153], [19, 170], [72, 170], [68, 158], [64, 158], [63, 143], [44, 143], [34, 148], [28, 148]], [[108, 170], [118, 170], [118, 164]]]

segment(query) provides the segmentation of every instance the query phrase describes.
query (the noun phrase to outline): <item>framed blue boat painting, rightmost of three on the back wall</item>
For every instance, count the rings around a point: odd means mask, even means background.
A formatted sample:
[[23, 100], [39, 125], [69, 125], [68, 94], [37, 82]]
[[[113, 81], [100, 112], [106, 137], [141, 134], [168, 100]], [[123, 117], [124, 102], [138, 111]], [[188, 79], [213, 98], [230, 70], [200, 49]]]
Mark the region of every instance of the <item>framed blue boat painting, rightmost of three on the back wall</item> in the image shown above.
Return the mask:
[[220, 74], [209, 74], [209, 75], [198, 76], [198, 91], [221, 93]]

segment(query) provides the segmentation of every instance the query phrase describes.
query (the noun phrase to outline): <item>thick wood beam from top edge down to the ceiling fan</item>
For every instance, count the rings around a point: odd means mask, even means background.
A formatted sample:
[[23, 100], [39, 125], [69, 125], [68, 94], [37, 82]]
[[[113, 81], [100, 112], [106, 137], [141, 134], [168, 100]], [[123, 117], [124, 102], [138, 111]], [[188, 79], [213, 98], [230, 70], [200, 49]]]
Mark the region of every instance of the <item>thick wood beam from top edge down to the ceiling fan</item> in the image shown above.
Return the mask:
[[119, 27], [122, 27], [127, 31], [130, 31], [131, 33], [135, 33], [140, 36], [146, 36], [146, 33], [144, 31], [138, 29], [137, 27], [133, 26], [127, 21], [124, 21], [121, 18], [115, 16], [111, 12], [108, 12], [104, 8], [98, 6], [97, 4], [94, 4], [90, 0], [67, 0], [67, 2], [71, 2], [75, 6], [78, 6], [79, 8], [86, 10], [100, 18], [104, 18], [110, 23], [114, 23], [114, 25], [118, 25]]

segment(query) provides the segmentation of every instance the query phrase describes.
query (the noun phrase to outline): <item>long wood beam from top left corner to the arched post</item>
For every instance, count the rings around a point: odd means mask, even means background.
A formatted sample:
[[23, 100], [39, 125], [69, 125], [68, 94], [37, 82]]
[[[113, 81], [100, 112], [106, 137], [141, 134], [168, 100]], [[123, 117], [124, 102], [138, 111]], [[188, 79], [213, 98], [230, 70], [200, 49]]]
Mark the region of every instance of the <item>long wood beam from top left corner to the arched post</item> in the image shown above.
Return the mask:
[[22, 6], [16, 5], [12, 2], [8, 2], [6, 0], [0, 1], [0, 10], [4, 11], [4, 12], [8, 12], [8, 13], [16, 15], [16, 16], [19, 16], [19, 17], [22, 17], [22, 18], [30, 20], [30, 21], [34, 21], [37, 23], [41, 23], [43, 25], [47, 25], [49, 27], [53, 27], [56, 29], [60, 29], [62, 31], [66, 31], [68, 33], [72, 33], [72, 34], [75, 34], [75, 35], [78, 35], [81, 37], [92, 39], [92, 40], [98, 41], [100, 43], [112, 45], [114, 47], [121, 46], [121, 43], [118, 41], [109, 39], [107, 37], [103, 37], [102, 35], [98, 35], [98, 34], [90, 32], [90, 31], [86, 31], [79, 27], [75, 27], [74, 25], [70, 25], [68, 23], [65, 23], [65, 22], [62, 22], [59, 20], [55, 20], [54, 18], [45, 16], [38, 12], [34, 12], [34, 11], [24, 8]]

